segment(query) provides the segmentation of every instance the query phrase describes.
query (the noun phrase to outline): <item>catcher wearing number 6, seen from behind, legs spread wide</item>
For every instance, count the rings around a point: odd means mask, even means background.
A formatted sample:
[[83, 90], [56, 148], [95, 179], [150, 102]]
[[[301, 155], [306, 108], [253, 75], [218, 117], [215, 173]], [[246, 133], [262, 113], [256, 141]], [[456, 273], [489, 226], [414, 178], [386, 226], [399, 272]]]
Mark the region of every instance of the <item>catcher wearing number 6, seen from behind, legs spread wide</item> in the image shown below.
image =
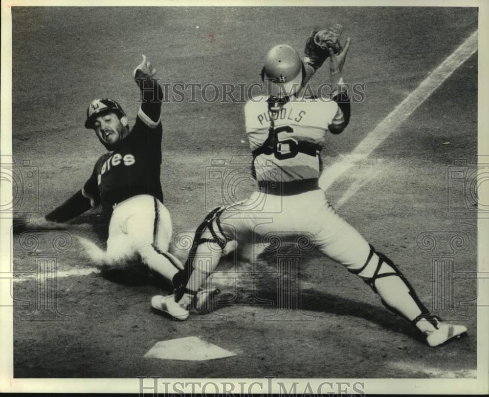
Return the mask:
[[[257, 191], [238, 207], [217, 208], [205, 218], [197, 229], [186, 271], [180, 273], [180, 286], [172, 295], [155, 296], [154, 308], [185, 320], [229, 241], [251, 243], [261, 241], [253, 239], [253, 233], [265, 236], [280, 232], [283, 236], [285, 232], [294, 242], [307, 231], [324, 255], [365, 281], [387, 309], [422, 333], [429, 346], [441, 345], [467, 331], [464, 326], [447, 324], [431, 315], [394, 262], [336, 214], [318, 186], [319, 153], [326, 135], [342, 132], [351, 116], [341, 75], [350, 38], [342, 47], [339, 33], [338, 26], [313, 32], [303, 61], [287, 44], [267, 53], [262, 79], [270, 82], [269, 92], [248, 101], [244, 108]], [[305, 82], [327, 59], [335, 87], [331, 99], [301, 95]], [[247, 205], [254, 208], [257, 202], [263, 203], [263, 213], [246, 211]], [[264, 222], [263, 214], [272, 221]]]

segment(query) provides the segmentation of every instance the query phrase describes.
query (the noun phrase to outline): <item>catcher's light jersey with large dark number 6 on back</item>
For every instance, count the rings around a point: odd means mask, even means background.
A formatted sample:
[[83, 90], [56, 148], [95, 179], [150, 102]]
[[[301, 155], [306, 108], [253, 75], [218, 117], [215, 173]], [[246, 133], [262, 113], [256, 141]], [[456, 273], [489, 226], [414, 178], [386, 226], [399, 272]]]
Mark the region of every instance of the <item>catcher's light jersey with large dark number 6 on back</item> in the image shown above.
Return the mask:
[[294, 98], [272, 112], [264, 95], [249, 100], [244, 113], [258, 182], [318, 179], [325, 133], [344, 123], [338, 104], [324, 98]]

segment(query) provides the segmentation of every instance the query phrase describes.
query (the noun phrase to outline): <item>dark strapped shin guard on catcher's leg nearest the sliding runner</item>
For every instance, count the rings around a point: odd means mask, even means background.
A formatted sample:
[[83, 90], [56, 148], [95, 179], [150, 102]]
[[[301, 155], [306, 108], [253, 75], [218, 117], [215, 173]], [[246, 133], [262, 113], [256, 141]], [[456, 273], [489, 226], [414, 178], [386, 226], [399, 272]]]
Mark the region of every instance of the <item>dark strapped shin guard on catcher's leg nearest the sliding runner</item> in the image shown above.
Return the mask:
[[223, 250], [226, 244], [232, 239], [228, 238], [221, 226], [221, 215], [225, 211], [225, 207], [218, 207], [212, 210], [204, 219], [202, 223], [197, 227], [194, 235], [194, 240], [190, 252], [188, 254], [187, 261], [185, 262], [185, 269], [177, 273], [173, 279], [173, 285], [177, 288], [182, 288], [186, 285], [190, 274], [194, 270], [200, 271], [201, 273], [207, 273], [206, 269], [201, 269], [199, 265], [192, 261], [195, 259], [197, 249], [201, 244], [204, 243], [214, 243]]

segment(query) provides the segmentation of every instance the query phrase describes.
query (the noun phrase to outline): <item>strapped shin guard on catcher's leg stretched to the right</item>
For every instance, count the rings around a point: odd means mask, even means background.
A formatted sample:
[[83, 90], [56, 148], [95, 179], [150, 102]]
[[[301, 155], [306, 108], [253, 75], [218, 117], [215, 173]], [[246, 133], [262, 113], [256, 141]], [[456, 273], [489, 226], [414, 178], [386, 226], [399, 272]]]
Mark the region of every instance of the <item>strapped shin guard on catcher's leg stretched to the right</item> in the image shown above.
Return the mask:
[[[365, 265], [359, 269], [350, 270], [350, 272], [361, 277], [375, 293], [379, 294], [383, 305], [387, 307], [387, 309], [405, 317], [396, 306], [404, 306], [404, 297], [410, 296], [412, 299], [411, 302], [414, 302], [414, 305], [421, 310], [422, 317], [429, 314], [429, 311], [424, 307], [421, 300], [416, 295], [414, 288], [409, 284], [396, 265], [394, 265], [394, 262], [381, 252], [377, 252], [372, 245], [370, 245], [370, 252]], [[382, 291], [379, 293], [376, 282], [379, 279], [386, 277], [392, 277], [392, 280], [383, 283]], [[386, 301], [391, 302], [391, 304]]]

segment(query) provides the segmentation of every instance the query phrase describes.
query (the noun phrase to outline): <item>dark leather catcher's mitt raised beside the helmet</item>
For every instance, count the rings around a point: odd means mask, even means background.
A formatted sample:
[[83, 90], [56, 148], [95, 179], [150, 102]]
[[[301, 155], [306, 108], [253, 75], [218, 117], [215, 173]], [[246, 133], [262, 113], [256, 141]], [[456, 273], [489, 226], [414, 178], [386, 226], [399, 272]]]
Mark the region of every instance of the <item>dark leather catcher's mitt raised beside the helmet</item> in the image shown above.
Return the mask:
[[339, 38], [342, 29], [343, 27], [339, 23], [336, 23], [328, 29], [323, 29], [319, 32], [312, 31], [306, 41], [304, 62], [316, 70], [329, 57], [330, 48], [333, 49], [333, 53], [337, 54], [341, 50]]

